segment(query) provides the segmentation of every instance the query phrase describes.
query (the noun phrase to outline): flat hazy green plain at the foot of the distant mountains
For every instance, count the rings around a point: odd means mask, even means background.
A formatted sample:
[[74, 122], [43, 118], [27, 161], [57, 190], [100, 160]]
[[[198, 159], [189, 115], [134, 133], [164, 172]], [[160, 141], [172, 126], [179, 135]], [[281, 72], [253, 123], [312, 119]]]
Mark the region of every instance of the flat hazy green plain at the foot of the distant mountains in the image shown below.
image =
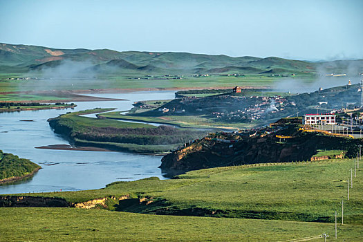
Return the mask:
[[[246, 75], [245, 77], [228, 77], [211, 75], [209, 77], [185, 77], [182, 80], [138, 80], [133, 76], [97, 77], [84, 80], [74, 78], [72, 80], [1, 80], [0, 92], [34, 91], [37, 90], [85, 90], [85, 89], [209, 89], [209, 88], [232, 88], [234, 86], [250, 87], [274, 87], [279, 80], [286, 77], [268, 77], [265, 75]], [[311, 83], [314, 78], [310, 76], [288, 77], [286, 80], [301, 80]]]

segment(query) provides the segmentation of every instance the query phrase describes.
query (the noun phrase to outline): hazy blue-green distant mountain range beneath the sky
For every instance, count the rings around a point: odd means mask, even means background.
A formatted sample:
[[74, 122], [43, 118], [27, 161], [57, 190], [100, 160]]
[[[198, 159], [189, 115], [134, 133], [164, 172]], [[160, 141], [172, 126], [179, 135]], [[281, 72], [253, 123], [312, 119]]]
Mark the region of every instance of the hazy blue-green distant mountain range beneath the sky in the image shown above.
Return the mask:
[[0, 73], [42, 72], [73, 66], [93, 75], [194, 75], [262, 74], [314, 75], [363, 72], [363, 60], [306, 62], [279, 57], [229, 57], [192, 53], [55, 49], [42, 46], [0, 44]]

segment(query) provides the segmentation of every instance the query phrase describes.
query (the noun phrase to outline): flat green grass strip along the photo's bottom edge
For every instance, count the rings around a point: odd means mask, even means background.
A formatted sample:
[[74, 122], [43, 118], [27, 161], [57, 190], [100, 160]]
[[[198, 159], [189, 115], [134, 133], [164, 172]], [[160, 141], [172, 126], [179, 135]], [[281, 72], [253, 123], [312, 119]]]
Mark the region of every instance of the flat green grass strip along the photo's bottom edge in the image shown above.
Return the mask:
[[[333, 223], [35, 207], [0, 208], [0, 218], [0, 241], [288, 241], [324, 232], [336, 241]], [[337, 236], [361, 241], [363, 225], [339, 225]]]

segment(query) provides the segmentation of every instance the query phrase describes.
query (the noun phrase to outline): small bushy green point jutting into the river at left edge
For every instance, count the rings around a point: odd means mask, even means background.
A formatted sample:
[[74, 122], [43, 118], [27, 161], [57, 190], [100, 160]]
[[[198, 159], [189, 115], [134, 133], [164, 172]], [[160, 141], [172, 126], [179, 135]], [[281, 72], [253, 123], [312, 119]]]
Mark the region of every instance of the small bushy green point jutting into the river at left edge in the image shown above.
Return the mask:
[[21, 178], [40, 169], [39, 165], [28, 159], [19, 158], [12, 153], [0, 150], [0, 183], [9, 178]]

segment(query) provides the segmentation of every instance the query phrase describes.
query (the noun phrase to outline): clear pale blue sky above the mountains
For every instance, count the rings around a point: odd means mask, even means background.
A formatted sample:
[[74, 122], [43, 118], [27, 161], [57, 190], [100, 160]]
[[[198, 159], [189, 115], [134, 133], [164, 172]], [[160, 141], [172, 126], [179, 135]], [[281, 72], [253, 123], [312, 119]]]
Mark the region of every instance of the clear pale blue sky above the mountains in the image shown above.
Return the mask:
[[0, 0], [0, 42], [363, 59], [363, 0]]

